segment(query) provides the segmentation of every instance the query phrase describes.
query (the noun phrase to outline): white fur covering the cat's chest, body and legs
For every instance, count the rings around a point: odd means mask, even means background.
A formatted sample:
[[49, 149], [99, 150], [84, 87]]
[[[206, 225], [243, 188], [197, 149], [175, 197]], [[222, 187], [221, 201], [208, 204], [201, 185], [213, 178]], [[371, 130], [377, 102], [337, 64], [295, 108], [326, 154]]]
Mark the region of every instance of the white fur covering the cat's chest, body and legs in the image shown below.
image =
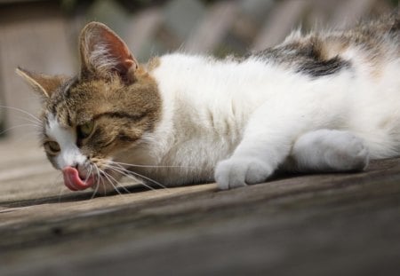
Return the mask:
[[[345, 55], [357, 58], [351, 49]], [[312, 79], [256, 58], [166, 55], [152, 72], [163, 119], [147, 146], [124, 158], [180, 166], [141, 171], [164, 185], [212, 181], [215, 173], [222, 189], [262, 182], [291, 155], [301, 170], [363, 169], [369, 156], [400, 152], [399, 60], [385, 64], [376, 77], [355, 64]], [[318, 140], [325, 142], [313, 150]]]

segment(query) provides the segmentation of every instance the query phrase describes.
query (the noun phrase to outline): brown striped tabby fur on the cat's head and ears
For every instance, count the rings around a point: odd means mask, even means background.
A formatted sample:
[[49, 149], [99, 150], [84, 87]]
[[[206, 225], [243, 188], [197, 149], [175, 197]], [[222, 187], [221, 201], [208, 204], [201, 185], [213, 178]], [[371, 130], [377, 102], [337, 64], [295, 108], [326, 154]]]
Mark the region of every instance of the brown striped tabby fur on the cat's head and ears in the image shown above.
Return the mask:
[[[117, 154], [127, 147], [138, 146], [136, 141], [143, 133], [154, 130], [161, 117], [162, 102], [155, 80], [148, 75], [145, 66], [136, 64], [130, 53], [124, 57], [131, 63], [128, 61], [130, 67], [123, 77], [119, 73], [124, 67], [102, 67], [100, 70], [91, 63], [91, 43], [100, 43], [97, 41], [99, 37], [109, 39], [105, 42], [107, 44], [117, 45], [117, 52], [129, 52], [109, 28], [107, 30], [111, 35], [93, 35], [93, 32], [96, 33], [93, 28], [97, 26], [88, 25], [81, 34], [82, 66], [79, 76], [68, 79], [34, 74], [22, 68], [17, 72], [44, 98], [44, 121], [51, 114], [57, 114], [60, 125], [73, 130], [85, 122], [95, 122], [92, 135], [84, 139], [76, 138], [76, 144], [83, 154], [101, 168], [102, 158]], [[91, 35], [87, 35], [88, 32]], [[93, 42], [93, 39], [96, 41]], [[149, 67], [156, 66], [157, 61], [153, 59]], [[49, 140], [45, 132], [43, 143]], [[57, 168], [54, 154], [46, 154]]]

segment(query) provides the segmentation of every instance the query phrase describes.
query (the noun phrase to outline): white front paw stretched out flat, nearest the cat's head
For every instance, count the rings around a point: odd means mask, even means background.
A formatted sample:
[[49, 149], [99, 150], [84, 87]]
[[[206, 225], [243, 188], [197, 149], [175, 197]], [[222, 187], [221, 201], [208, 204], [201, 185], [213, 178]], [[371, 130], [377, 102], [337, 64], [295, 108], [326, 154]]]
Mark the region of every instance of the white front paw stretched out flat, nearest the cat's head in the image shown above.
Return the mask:
[[230, 158], [215, 168], [215, 181], [221, 190], [258, 184], [265, 181], [273, 170], [267, 162], [257, 158]]

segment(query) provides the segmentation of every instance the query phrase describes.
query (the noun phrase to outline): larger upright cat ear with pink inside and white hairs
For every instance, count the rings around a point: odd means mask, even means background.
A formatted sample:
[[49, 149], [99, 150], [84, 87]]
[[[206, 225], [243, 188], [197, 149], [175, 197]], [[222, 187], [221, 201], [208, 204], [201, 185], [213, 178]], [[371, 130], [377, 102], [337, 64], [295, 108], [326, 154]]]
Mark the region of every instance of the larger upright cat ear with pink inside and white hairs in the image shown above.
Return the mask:
[[80, 35], [81, 76], [118, 75], [125, 83], [135, 80], [138, 62], [124, 41], [99, 22], [87, 24]]

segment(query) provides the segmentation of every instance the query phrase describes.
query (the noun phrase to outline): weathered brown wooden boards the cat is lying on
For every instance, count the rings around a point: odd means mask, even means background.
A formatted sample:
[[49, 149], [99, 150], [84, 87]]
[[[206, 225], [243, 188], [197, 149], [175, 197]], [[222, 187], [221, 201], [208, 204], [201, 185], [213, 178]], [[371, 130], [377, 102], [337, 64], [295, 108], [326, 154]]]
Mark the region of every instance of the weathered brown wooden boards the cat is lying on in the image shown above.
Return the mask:
[[0, 275], [400, 275], [400, 159], [92, 198], [0, 141]]

